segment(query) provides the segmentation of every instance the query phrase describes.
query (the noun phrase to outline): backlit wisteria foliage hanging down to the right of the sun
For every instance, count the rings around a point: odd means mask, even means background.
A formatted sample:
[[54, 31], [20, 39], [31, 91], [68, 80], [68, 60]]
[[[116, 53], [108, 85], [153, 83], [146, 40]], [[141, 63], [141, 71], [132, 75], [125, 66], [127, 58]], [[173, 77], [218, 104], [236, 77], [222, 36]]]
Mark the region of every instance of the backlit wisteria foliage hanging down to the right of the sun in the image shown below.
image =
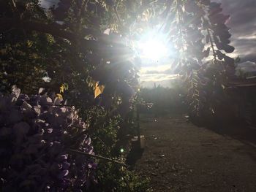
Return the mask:
[[225, 25], [229, 15], [210, 0], [156, 1], [151, 9], [152, 22], [173, 45], [172, 69], [187, 83], [189, 111], [197, 117], [214, 112], [222, 84], [234, 77], [234, 59], [225, 54], [234, 50]]

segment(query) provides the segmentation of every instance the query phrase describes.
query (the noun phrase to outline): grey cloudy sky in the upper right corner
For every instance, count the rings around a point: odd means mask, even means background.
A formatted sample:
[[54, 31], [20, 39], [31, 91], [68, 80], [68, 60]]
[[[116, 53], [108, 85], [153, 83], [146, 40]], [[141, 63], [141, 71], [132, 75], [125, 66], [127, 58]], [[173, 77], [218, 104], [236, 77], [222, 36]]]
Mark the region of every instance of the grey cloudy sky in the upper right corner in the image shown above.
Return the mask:
[[256, 0], [215, 0], [230, 15], [227, 23], [232, 34], [231, 44], [241, 61], [256, 62]]

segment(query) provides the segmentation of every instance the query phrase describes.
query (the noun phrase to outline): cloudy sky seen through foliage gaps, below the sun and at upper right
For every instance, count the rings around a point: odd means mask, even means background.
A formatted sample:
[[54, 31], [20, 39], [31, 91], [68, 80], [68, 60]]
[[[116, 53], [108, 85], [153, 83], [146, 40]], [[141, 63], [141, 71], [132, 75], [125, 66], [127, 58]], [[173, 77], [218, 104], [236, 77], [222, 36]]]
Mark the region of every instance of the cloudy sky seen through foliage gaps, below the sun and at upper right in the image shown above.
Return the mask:
[[[42, 7], [49, 7], [57, 0], [41, 0]], [[213, 0], [222, 3], [223, 13], [230, 15], [227, 26], [230, 27], [231, 45], [236, 50], [230, 54], [239, 56], [241, 63], [256, 63], [256, 0]], [[155, 62], [151, 66], [143, 66], [140, 70], [140, 82], [163, 82], [172, 80], [175, 76], [170, 70], [170, 64]], [[148, 85], [148, 83], [147, 83]]]

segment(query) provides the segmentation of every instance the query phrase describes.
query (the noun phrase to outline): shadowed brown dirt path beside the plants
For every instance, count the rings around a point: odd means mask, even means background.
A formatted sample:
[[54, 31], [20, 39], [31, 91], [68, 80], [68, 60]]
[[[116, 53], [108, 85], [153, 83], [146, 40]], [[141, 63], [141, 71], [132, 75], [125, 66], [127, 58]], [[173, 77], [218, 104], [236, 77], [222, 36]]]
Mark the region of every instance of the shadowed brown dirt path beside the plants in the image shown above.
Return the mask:
[[256, 130], [203, 128], [184, 117], [141, 118], [146, 148], [134, 169], [154, 191], [256, 191]]

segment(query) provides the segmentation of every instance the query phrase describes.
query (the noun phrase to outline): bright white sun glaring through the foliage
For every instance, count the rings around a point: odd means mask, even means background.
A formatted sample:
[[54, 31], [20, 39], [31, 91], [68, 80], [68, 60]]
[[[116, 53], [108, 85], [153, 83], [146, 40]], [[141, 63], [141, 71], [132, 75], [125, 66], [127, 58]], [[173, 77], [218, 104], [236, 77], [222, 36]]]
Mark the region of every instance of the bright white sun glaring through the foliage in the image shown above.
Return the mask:
[[146, 58], [152, 61], [167, 58], [168, 47], [165, 35], [157, 33], [143, 35], [138, 42], [138, 53], [140, 58]]

